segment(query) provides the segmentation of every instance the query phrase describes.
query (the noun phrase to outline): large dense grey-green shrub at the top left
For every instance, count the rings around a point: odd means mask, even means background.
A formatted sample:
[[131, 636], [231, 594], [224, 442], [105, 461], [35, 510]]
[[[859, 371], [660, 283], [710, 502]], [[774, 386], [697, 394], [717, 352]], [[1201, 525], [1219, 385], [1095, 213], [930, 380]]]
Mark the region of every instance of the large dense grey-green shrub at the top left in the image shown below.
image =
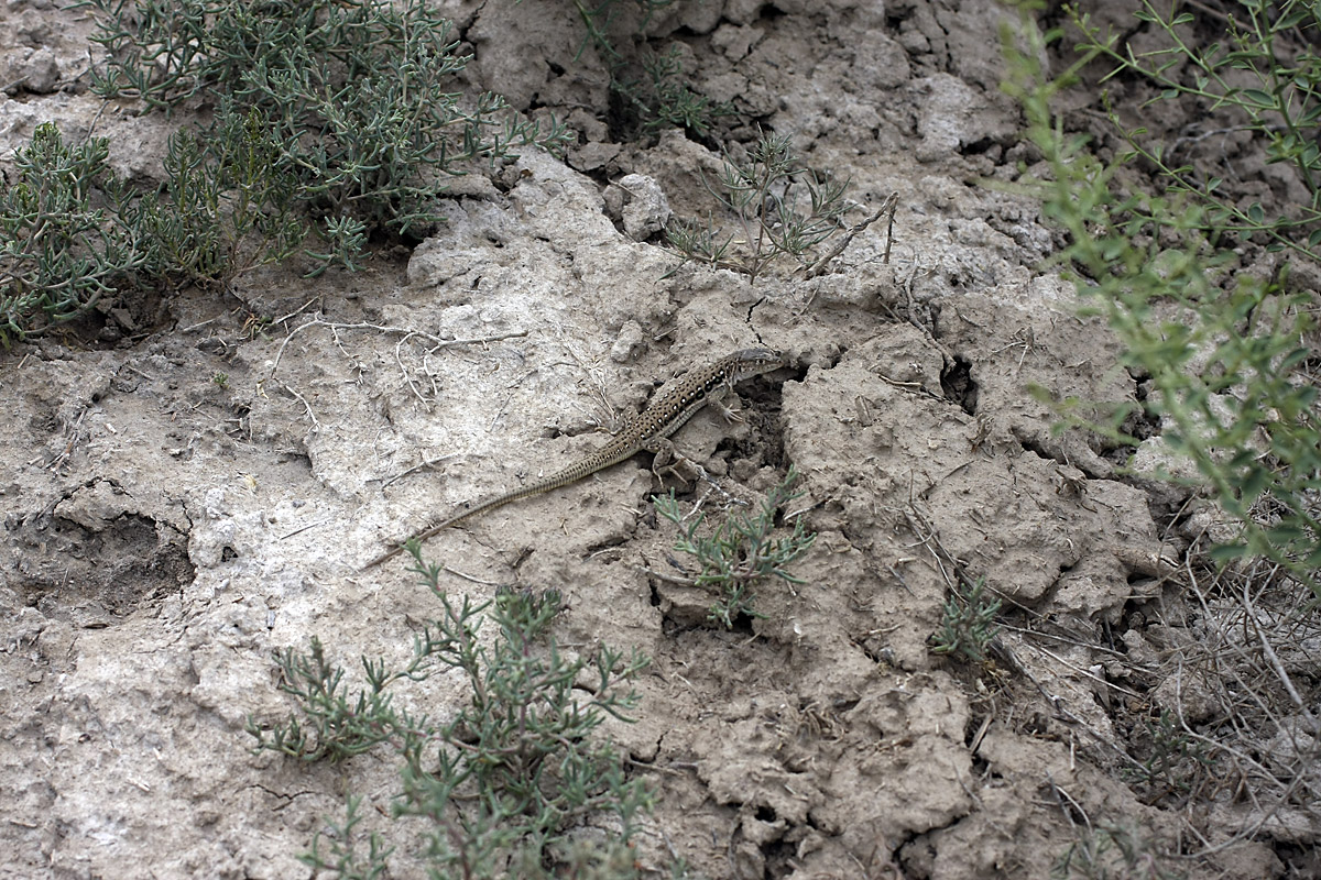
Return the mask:
[[213, 241], [184, 231], [189, 274], [234, 265], [218, 257], [248, 237], [267, 241], [248, 264], [288, 256], [308, 234], [293, 228], [295, 208], [314, 220], [322, 247], [308, 256], [320, 269], [351, 268], [371, 231], [421, 236], [441, 222], [445, 181], [472, 162], [567, 139], [515, 117], [498, 95], [466, 100], [456, 75], [469, 58], [424, 0], [83, 5], [110, 55], [92, 71], [96, 94], [166, 111], [217, 103], [211, 127], [176, 144], [168, 169], [174, 220], [231, 227]]

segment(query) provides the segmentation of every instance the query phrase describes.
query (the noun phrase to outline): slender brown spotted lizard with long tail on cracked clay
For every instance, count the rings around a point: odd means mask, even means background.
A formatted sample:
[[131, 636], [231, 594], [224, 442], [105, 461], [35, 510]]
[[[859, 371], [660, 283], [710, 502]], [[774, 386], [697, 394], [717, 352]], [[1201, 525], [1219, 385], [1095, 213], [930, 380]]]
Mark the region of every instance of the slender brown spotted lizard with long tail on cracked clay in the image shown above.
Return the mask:
[[[744, 348], [712, 364], [691, 369], [679, 384], [651, 401], [639, 416], [625, 421], [614, 439], [601, 449], [534, 483], [490, 497], [437, 525], [417, 532], [411, 538], [395, 544], [390, 550], [365, 565], [362, 570], [373, 569], [400, 553], [408, 541], [425, 541], [452, 525], [489, 513], [498, 507], [577, 483], [597, 471], [633, 458], [638, 453], [659, 453], [668, 438], [683, 427], [697, 410], [707, 404], [720, 406], [720, 398], [733, 388], [734, 383], [778, 369], [783, 364], [783, 359], [769, 348]], [[731, 417], [728, 409], [724, 406], [720, 409], [725, 417]]]

